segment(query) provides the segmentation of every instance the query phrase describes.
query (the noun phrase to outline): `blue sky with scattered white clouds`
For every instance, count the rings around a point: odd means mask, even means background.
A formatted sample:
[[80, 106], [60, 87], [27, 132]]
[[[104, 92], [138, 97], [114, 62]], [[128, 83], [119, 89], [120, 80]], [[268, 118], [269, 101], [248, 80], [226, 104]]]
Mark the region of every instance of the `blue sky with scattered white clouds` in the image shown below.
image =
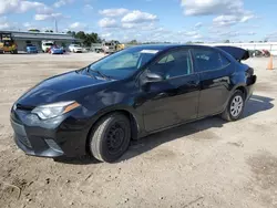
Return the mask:
[[277, 41], [277, 0], [0, 0], [0, 30], [96, 32], [127, 42]]

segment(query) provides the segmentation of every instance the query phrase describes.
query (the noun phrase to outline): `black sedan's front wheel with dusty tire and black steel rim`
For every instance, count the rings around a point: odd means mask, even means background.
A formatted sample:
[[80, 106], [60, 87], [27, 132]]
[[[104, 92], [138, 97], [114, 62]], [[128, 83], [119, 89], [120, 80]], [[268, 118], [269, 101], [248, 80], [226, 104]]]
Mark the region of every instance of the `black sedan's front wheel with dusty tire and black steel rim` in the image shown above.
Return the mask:
[[127, 150], [130, 141], [130, 119], [121, 113], [113, 113], [95, 124], [89, 148], [98, 160], [113, 163]]

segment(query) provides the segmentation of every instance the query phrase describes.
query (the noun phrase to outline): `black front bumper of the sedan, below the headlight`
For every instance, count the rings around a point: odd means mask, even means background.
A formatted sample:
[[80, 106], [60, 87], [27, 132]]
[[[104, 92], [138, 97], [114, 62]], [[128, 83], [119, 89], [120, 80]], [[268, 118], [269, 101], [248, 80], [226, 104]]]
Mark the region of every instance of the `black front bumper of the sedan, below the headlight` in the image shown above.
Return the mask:
[[41, 121], [28, 111], [12, 110], [10, 119], [14, 131], [14, 142], [27, 155], [32, 156], [85, 155], [90, 121], [82, 116], [80, 111]]

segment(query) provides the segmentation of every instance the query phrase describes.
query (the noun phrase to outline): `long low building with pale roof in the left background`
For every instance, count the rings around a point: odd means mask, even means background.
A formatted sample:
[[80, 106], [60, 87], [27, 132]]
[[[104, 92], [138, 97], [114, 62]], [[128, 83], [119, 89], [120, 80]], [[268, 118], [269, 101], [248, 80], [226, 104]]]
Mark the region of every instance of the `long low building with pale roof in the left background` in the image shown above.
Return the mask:
[[25, 51], [27, 44], [33, 44], [39, 51], [42, 51], [42, 41], [54, 41], [55, 44], [68, 48], [71, 43], [80, 42], [66, 33], [52, 32], [21, 32], [21, 31], [1, 31], [0, 33], [11, 33], [12, 39], [18, 45], [18, 51]]

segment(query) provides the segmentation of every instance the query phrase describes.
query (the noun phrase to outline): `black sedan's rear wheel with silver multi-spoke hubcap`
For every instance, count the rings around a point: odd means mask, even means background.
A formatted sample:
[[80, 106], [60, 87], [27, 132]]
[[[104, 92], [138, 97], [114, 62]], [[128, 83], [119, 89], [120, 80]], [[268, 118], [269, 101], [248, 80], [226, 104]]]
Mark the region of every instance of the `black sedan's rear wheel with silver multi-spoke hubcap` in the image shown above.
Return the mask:
[[245, 107], [245, 95], [242, 91], [236, 90], [229, 98], [228, 105], [222, 113], [222, 118], [228, 122], [237, 121], [242, 117]]

